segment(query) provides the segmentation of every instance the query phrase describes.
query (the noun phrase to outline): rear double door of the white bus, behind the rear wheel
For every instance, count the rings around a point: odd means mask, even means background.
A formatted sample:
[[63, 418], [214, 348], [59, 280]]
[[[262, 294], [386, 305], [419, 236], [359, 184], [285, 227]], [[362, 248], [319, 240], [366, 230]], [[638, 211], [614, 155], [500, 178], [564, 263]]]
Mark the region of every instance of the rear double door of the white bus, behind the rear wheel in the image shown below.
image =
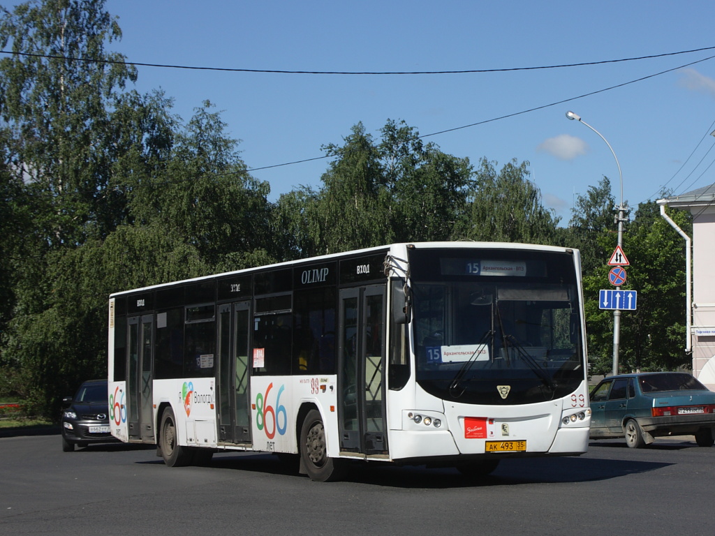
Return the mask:
[[154, 315], [127, 319], [129, 440], [154, 442]]

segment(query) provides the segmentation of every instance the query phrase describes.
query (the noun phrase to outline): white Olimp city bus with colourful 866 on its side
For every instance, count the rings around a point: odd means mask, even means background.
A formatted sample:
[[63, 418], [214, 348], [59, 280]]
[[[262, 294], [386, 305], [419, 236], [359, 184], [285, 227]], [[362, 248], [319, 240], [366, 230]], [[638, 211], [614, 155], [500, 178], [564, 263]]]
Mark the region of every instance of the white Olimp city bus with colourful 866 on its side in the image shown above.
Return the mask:
[[[214, 452], [457, 467], [586, 452], [575, 249], [393, 244], [109, 299], [112, 435], [169, 466]], [[286, 456], [290, 457], [290, 456]]]

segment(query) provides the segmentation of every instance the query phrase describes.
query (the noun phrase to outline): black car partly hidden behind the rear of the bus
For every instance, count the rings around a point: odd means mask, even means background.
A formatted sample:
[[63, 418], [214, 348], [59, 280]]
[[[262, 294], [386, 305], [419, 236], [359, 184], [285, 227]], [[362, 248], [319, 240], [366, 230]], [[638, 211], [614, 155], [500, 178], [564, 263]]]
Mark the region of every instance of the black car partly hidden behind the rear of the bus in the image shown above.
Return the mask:
[[62, 402], [62, 450], [71, 452], [74, 445], [87, 447], [89, 443], [117, 441], [109, 433], [109, 402], [107, 380], [92, 379], [84, 382], [74, 397]]

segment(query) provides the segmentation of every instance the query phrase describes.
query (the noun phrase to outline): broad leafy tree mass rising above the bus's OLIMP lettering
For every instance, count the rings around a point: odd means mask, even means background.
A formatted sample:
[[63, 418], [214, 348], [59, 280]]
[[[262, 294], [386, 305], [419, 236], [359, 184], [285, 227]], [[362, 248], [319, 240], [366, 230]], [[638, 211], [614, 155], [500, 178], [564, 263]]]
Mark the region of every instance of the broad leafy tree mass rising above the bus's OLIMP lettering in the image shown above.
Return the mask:
[[375, 142], [353, 126], [342, 146], [323, 147], [335, 159], [320, 189], [280, 198], [290, 258], [453, 237], [473, 185], [469, 160], [424, 144], [404, 121], [388, 120], [380, 133]]

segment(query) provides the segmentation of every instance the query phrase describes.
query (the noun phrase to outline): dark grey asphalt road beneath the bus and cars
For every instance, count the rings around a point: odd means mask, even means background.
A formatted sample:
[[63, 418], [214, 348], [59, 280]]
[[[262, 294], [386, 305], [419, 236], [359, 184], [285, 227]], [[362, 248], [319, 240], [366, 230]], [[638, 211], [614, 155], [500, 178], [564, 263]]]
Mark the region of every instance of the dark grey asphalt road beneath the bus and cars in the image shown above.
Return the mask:
[[0, 437], [0, 535], [711, 536], [714, 457], [690, 438], [608, 440], [504, 461], [483, 482], [378, 465], [319, 483], [271, 455], [169, 468], [147, 448]]

